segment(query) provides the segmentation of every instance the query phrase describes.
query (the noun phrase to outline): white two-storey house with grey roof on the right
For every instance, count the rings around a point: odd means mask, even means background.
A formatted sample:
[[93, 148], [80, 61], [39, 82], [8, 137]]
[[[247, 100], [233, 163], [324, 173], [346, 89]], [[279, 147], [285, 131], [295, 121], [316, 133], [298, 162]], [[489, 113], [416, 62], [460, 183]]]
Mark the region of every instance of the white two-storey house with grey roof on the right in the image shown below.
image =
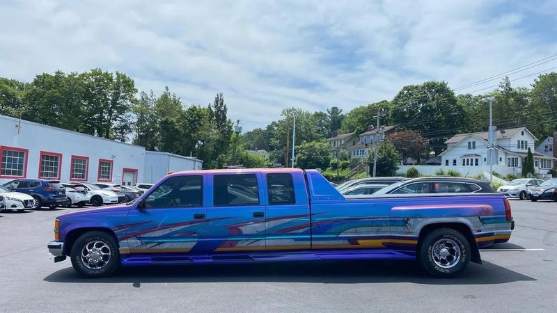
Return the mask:
[[[496, 132], [493, 166], [502, 175], [521, 174], [528, 148], [534, 157], [536, 174], [546, 174], [553, 168], [555, 158], [534, 150], [537, 139], [526, 127], [503, 129]], [[489, 166], [487, 131], [457, 134], [445, 141], [447, 150], [439, 154], [442, 168], [455, 168], [461, 172], [481, 172]]]

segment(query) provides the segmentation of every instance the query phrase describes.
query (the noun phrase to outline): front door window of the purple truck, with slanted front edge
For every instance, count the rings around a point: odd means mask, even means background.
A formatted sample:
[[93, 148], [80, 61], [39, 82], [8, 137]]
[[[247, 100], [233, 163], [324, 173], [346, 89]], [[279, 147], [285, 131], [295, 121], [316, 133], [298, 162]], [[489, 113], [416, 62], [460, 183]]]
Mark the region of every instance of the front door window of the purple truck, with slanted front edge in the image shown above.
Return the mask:
[[145, 201], [147, 208], [201, 207], [203, 176], [175, 176], [155, 188]]

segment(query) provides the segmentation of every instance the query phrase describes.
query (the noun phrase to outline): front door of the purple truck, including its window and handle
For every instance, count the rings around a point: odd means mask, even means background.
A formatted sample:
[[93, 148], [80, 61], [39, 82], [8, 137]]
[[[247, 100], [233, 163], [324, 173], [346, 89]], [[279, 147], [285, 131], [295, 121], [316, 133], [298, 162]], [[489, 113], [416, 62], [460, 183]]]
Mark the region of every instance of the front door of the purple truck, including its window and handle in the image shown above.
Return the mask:
[[132, 255], [207, 252], [201, 244], [207, 211], [203, 187], [203, 175], [168, 177], [150, 191], [143, 208], [130, 209], [120, 244]]

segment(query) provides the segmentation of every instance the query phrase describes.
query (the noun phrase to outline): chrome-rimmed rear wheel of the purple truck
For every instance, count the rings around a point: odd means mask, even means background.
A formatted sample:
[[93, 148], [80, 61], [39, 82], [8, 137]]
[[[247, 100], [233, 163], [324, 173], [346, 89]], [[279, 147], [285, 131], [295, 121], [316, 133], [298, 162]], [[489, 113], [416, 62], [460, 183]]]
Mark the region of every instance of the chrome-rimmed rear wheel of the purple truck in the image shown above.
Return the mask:
[[[444, 248], [438, 250], [443, 246], [443, 241], [445, 241]], [[435, 257], [436, 254], [447, 254], [444, 256], [446, 259]], [[430, 232], [418, 247], [418, 262], [427, 273], [438, 278], [454, 277], [464, 271], [470, 262], [470, 256], [470, 243], [466, 237], [450, 228]]]

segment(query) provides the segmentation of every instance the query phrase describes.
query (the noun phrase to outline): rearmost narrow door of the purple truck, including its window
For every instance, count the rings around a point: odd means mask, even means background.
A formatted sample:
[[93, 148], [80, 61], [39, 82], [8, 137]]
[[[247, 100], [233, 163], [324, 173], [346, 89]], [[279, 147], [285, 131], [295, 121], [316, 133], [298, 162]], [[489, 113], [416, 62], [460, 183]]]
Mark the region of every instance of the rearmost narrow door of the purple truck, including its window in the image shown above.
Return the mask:
[[302, 172], [268, 172], [266, 250], [311, 248], [310, 208]]

